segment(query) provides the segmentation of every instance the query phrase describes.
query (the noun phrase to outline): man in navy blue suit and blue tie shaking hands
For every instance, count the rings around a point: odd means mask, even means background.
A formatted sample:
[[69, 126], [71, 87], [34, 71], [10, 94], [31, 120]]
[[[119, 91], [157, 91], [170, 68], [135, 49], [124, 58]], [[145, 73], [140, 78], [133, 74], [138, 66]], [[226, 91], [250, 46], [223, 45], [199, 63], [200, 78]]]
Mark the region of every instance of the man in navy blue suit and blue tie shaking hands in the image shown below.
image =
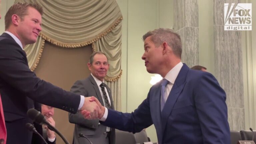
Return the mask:
[[181, 62], [181, 39], [170, 29], [149, 31], [143, 40], [146, 69], [163, 80], [132, 113], [100, 106], [101, 124], [133, 133], [154, 124], [159, 144], [229, 144], [226, 94], [215, 77]]

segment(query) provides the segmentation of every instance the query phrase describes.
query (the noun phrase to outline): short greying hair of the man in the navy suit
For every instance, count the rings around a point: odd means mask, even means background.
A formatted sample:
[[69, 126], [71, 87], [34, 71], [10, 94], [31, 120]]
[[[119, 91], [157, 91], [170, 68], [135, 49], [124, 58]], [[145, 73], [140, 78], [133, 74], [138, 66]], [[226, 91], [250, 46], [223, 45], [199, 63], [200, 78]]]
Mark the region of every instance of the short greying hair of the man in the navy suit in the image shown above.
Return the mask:
[[172, 48], [173, 53], [181, 58], [182, 45], [179, 34], [173, 32], [171, 29], [159, 28], [153, 31], [149, 31], [143, 35], [143, 41], [145, 41], [145, 39], [150, 36], [151, 41], [155, 44], [156, 47], [161, 45], [163, 42], [167, 42], [167, 44]]

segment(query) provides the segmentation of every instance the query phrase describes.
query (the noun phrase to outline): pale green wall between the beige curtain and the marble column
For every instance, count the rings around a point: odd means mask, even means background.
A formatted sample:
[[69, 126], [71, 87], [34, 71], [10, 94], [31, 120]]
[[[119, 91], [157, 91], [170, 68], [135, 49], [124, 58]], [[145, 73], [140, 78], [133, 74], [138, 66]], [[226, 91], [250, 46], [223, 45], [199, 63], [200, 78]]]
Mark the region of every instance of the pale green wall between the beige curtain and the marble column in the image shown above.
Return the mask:
[[[122, 112], [134, 111], [147, 97], [151, 76], [141, 59], [142, 36], [150, 31], [173, 27], [173, 0], [116, 0], [123, 15], [122, 33]], [[146, 128], [157, 142], [155, 127]]]

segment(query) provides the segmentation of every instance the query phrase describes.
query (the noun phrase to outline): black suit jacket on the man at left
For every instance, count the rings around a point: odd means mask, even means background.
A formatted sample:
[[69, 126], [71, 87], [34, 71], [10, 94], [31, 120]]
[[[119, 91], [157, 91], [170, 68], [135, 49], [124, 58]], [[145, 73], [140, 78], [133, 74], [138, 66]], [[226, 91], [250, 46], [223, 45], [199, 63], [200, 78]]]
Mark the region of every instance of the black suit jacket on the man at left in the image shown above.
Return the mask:
[[[28, 67], [26, 53], [7, 33], [0, 36], [0, 93], [7, 129], [7, 144], [30, 144], [25, 128], [27, 110], [34, 102], [76, 113], [80, 95], [67, 92], [38, 78]], [[15, 137], [15, 138], [14, 138]]]

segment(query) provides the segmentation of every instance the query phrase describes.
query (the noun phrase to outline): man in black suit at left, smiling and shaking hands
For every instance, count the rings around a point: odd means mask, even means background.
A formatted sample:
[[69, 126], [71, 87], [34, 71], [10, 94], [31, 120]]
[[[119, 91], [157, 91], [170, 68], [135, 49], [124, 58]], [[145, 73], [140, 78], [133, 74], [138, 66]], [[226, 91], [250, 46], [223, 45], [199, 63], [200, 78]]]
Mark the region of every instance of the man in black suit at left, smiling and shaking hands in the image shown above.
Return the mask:
[[[27, 110], [37, 103], [84, 116], [101, 114], [89, 97], [80, 96], [39, 79], [28, 67], [23, 48], [35, 43], [42, 30], [42, 7], [16, 3], [5, 15], [5, 32], [0, 36], [0, 93], [7, 129], [7, 144], [31, 144], [32, 132], [25, 128], [32, 123]], [[88, 110], [88, 111], [84, 111]]]

